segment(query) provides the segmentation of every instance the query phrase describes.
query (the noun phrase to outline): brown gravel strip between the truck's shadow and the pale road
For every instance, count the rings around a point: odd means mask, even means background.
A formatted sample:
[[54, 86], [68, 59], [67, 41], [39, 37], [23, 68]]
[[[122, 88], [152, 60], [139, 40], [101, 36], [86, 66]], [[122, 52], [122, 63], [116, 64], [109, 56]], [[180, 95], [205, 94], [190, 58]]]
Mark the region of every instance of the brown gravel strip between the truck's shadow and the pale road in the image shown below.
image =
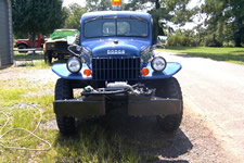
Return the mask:
[[185, 106], [182, 131], [189, 137], [193, 148], [179, 159], [190, 162], [237, 162], [221, 145], [210, 128], [204, 116], [193, 112]]

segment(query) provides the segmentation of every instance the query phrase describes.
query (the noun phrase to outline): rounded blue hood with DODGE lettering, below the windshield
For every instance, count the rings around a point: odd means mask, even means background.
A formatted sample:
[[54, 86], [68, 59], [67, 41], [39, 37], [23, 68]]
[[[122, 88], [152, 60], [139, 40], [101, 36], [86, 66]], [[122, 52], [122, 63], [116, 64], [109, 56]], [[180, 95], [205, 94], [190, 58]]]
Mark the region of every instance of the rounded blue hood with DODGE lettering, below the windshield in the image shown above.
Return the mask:
[[150, 41], [140, 38], [97, 38], [86, 40], [81, 46], [88, 48], [93, 58], [140, 57], [141, 51], [150, 46]]

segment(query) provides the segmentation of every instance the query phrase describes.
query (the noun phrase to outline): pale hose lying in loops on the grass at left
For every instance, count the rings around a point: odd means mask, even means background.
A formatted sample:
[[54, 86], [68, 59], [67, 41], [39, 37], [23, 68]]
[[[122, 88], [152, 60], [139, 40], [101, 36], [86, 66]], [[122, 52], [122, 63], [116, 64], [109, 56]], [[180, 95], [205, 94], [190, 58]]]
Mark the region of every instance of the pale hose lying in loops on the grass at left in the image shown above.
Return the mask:
[[[37, 108], [37, 106], [33, 105], [33, 104], [25, 104], [25, 105], [35, 108], [40, 113], [40, 118], [38, 121], [38, 124], [37, 124], [36, 128], [33, 131], [27, 130], [25, 128], [13, 128], [13, 129], [10, 129], [10, 130], [5, 131], [4, 134], [1, 134], [0, 135], [0, 146], [3, 147], [4, 149], [14, 149], [14, 150], [27, 150], [27, 151], [48, 151], [48, 150], [50, 150], [52, 148], [52, 145], [49, 141], [47, 141], [47, 140], [44, 140], [44, 139], [42, 139], [42, 138], [40, 138], [40, 137], [38, 137], [37, 135], [34, 134], [39, 128], [40, 123], [41, 123], [41, 120], [42, 120], [41, 109], [39, 109], [39, 108]], [[3, 125], [3, 127], [0, 129], [0, 133], [1, 133], [3, 130], [3, 128], [5, 128], [5, 126], [9, 124], [10, 116], [5, 112], [3, 112], [3, 111], [0, 111], [0, 114], [3, 114], [7, 117], [7, 121], [5, 121], [4, 125]], [[7, 134], [9, 134], [11, 131], [14, 131], [14, 130], [24, 130], [24, 131], [28, 133], [28, 135], [25, 136], [25, 137], [21, 137], [21, 138], [17, 138], [17, 139], [12, 139], [12, 140], [3, 140], [2, 139]], [[43, 143], [48, 145], [49, 147], [48, 148], [43, 148], [43, 149], [31, 149], [31, 148], [21, 148], [21, 147], [7, 147], [7, 146], [3, 145], [7, 141], [8, 142], [15, 142], [15, 141], [18, 141], [21, 139], [25, 139], [25, 138], [27, 138], [29, 136], [34, 136], [38, 140], [40, 140]]]

